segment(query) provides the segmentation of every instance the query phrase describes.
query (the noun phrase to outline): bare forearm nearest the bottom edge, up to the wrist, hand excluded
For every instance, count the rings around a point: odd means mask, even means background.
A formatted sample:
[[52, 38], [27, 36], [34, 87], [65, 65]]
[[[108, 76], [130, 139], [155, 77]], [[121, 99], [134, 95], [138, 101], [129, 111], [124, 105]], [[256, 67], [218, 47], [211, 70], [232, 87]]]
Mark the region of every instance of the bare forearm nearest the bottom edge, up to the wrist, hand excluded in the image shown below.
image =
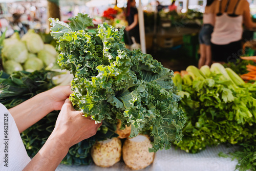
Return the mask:
[[68, 146], [65, 141], [61, 141], [60, 135], [51, 135], [45, 145], [42, 146], [40, 151], [23, 170], [55, 170], [62, 159], [67, 155], [69, 151]]

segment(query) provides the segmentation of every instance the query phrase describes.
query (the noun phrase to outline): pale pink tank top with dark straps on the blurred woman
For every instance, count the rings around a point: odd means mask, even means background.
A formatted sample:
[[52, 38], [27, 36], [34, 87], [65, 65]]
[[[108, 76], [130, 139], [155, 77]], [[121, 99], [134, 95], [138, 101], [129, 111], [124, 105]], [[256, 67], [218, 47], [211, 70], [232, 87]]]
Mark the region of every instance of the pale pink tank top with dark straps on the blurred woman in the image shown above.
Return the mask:
[[241, 40], [243, 34], [243, 16], [236, 16], [234, 14], [239, 2], [240, 1], [238, 1], [231, 16], [226, 13], [229, 1], [227, 3], [225, 13], [219, 13], [220, 15], [216, 16], [214, 32], [211, 35], [211, 42], [213, 44], [227, 45], [230, 42]]

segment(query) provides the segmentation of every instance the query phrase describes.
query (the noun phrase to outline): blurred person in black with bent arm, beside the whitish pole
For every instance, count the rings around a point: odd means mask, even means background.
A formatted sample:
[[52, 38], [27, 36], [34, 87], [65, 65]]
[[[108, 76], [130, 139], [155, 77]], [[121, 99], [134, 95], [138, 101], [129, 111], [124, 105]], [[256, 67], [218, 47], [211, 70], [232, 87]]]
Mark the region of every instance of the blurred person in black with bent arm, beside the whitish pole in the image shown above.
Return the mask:
[[129, 44], [133, 44], [131, 37], [134, 37], [136, 43], [140, 44], [138, 10], [136, 8], [135, 0], [127, 1], [126, 20], [128, 22], [128, 26], [125, 28], [125, 31], [127, 32], [127, 34], [129, 34]]

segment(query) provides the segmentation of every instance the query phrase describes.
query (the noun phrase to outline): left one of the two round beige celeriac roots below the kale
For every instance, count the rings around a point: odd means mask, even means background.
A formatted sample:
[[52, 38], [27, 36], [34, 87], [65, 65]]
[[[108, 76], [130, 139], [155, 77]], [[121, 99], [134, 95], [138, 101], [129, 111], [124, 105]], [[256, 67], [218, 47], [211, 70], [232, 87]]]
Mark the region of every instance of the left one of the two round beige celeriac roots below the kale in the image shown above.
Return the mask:
[[122, 144], [119, 138], [96, 142], [91, 155], [94, 163], [100, 167], [110, 167], [120, 161]]

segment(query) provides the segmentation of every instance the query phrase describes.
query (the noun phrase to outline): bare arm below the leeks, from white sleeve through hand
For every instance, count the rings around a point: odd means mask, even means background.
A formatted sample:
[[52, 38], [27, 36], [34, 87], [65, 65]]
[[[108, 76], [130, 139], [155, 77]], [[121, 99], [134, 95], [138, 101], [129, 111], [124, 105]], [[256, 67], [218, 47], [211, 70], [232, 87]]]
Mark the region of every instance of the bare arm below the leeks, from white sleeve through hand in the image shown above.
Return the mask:
[[19, 133], [54, 110], [60, 110], [71, 94], [70, 86], [55, 87], [9, 109]]

